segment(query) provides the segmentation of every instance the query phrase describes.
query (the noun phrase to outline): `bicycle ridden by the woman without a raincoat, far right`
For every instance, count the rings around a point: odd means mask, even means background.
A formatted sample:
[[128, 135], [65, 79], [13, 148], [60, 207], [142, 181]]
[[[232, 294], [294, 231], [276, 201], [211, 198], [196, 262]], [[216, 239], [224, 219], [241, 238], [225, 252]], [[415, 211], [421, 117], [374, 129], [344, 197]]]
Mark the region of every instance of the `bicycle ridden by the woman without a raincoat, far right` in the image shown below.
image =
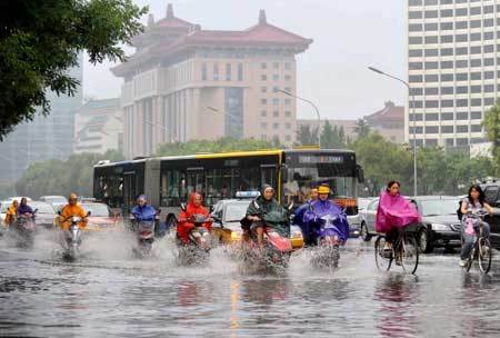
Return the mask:
[[479, 270], [482, 274], [488, 274], [490, 271], [491, 268], [491, 242], [488, 239], [488, 237], [482, 236], [482, 221], [484, 216], [487, 215], [487, 212], [484, 211], [478, 211], [476, 213], [468, 213], [468, 217], [470, 218], [476, 218], [479, 219], [481, 221], [481, 223], [479, 225], [479, 233], [477, 231], [476, 232], [476, 239], [474, 239], [474, 243], [472, 247], [472, 250], [470, 251], [470, 256], [469, 259], [466, 264], [466, 266], [463, 267], [463, 270], [466, 270], [466, 272], [470, 271], [470, 268], [472, 267], [473, 261], [477, 259], [478, 260], [478, 265], [479, 265]]

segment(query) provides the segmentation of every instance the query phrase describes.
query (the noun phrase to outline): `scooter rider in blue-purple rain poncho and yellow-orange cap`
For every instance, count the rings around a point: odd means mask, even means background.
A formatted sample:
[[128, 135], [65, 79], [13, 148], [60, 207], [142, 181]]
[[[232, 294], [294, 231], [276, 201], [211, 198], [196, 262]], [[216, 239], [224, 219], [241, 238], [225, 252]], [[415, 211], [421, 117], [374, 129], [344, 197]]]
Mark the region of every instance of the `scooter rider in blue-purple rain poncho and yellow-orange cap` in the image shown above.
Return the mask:
[[319, 222], [318, 220], [324, 216], [337, 217], [339, 221], [336, 222], [337, 235], [339, 241], [344, 243], [349, 238], [349, 223], [341, 207], [329, 200], [330, 187], [321, 185], [318, 188], [318, 199], [311, 202], [309, 210], [303, 215], [303, 223], [309, 225], [307, 237], [310, 238], [311, 245], [317, 245]]

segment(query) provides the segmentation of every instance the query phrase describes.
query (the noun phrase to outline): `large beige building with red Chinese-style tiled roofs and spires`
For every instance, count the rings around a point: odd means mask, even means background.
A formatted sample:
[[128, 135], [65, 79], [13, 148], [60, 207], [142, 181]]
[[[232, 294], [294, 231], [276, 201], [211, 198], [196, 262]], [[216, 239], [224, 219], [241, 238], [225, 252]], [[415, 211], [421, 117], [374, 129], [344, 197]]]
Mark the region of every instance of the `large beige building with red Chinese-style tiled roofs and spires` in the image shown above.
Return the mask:
[[133, 40], [136, 53], [112, 69], [124, 79], [127, 157], [148, 156], [160, 142], [237, 138], [292, 143], [296, 54], [312, 40], [267, 22], [243, 31], [202, 30], [173, 16]]

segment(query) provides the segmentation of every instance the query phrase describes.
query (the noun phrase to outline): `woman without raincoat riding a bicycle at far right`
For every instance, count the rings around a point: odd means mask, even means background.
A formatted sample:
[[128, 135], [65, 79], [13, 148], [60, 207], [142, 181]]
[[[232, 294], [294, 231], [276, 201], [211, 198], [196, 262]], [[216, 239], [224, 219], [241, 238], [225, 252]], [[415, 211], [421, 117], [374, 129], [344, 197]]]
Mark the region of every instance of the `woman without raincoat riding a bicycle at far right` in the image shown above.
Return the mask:
[[468, 196], [462, 200], [461, 212], [462, 218], [462, 250], [460, 252], [460, 266], [464, 267], [470, 257], [470, 251], [474, 245], [476, 232], [479, 232], [479, 227], [482, 225], [482, 233], [484, 237], [490, 236], [490, 225], [481, 219], [472, 217], [480, 210], [492, 213], [493, 209], [484, 201], [484, 191], [478, 185], [469, 188]]

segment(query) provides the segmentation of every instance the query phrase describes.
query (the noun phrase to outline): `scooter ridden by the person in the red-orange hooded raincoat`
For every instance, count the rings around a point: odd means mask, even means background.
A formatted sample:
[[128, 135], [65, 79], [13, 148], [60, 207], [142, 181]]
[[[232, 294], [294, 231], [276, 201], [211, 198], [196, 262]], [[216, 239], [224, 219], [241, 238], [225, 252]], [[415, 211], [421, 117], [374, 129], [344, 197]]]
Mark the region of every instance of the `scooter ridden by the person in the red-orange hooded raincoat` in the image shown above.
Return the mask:
[[193, 223], [194, 228], [189, 232], [189, 242], [179, 245], [180, 265], [202, 265], [209, 259], [212, 237], [203, 227], [203, 223], [208, 221], [209, 219], [203, 215], [197, 213], [190, 217], [189, 222]]

